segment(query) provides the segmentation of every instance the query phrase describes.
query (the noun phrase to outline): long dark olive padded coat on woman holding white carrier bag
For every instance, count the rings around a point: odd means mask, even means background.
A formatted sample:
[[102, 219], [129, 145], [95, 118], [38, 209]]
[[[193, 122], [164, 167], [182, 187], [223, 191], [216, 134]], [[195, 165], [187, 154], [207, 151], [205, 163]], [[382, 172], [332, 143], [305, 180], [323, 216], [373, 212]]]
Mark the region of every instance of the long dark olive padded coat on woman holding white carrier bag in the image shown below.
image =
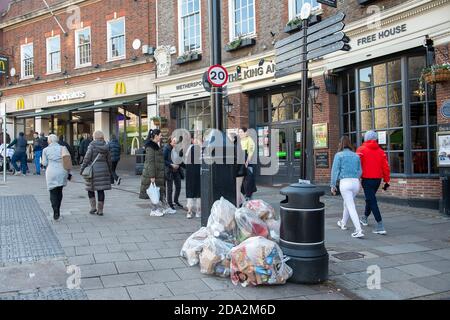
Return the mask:
[[141, 196], [147, 195], [151, 178], [155, 178], [155, 184], [160, 188], [161, 198], [165, 198], [166, 183], [164, 178], [164, 153], [163, 148], [157, 143], [149, 141], [145, 148], [145, 163], [141, 180]]

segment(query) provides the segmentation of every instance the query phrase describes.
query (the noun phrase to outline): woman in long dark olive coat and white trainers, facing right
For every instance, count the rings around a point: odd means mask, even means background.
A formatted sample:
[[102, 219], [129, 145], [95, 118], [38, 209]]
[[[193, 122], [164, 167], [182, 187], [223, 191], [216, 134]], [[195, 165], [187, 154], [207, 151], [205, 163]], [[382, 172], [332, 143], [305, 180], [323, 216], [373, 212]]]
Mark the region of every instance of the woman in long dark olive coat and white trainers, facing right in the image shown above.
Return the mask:
[[166, 202], [166, 181], [164, 152], [161, 147], [161, 130], [151, 129], [145, 142], [145, 163], [142, 171], [140, 199], [149, 199], [147, 189], [154, 183], [159, 187], [160, 202], [157, 205], [150, 204], [150, 216], [163, 216], [165, 213], [175, 214], [176, 211], [168, 207]]

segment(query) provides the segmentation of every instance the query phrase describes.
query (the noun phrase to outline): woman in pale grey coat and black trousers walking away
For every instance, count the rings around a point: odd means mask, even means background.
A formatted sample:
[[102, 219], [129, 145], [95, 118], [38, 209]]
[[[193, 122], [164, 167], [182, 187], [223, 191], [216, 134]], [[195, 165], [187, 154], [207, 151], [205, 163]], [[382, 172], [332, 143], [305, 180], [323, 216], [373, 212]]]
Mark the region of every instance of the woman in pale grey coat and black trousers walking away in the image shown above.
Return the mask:
[[42, 151], [42, 165], [46, 167], [45, 180], [50, 192], [50, 202], [53, 208], [53, 219], [58, 220], [61, 212], [63, 188], [70, 180], [70, 170], [64, 169], [63, 157], [70, 155], [66, 147], [58, 143], [58, 137], [49, 135], [50, 145]]

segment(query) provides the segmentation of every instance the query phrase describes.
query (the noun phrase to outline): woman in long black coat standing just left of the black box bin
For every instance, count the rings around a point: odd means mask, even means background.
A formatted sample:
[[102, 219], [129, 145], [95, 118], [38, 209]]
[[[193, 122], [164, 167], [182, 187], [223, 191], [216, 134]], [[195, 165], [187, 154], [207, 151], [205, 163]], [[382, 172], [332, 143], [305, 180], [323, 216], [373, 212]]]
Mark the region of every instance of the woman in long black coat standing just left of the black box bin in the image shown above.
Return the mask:
[[201, 169], [200, 142], [192, 136], [191, 145], [187, 149], [185, 157], [186, 167], [186, 198], [188, 213], [186, 218], [201, 218], [201, 189], [200, 189], [200, 169]]

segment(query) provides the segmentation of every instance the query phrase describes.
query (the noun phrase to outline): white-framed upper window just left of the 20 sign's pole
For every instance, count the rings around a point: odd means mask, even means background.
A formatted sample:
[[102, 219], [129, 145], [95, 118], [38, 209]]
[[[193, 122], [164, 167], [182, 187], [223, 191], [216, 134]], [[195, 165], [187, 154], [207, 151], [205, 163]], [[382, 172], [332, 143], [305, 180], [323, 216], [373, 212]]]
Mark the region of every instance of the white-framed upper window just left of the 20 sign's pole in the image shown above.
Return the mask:
[[180, 52], [200, 51], [200, 0], [179, 0], [178, 15]]

